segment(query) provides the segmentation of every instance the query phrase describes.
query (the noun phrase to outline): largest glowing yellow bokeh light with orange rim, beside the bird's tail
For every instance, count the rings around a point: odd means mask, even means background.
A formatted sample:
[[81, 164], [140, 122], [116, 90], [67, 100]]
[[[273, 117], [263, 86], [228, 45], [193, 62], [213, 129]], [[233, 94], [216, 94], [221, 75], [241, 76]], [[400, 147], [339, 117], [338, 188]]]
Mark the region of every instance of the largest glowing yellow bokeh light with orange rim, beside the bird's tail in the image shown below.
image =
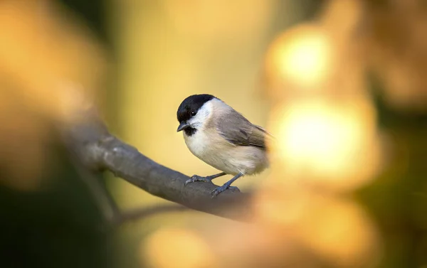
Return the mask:
[[277, 153], [288, 174], [352, 189], [369, 181], [379, 166], [374, 109], [363, 98], [292, 102], [273, 120]]

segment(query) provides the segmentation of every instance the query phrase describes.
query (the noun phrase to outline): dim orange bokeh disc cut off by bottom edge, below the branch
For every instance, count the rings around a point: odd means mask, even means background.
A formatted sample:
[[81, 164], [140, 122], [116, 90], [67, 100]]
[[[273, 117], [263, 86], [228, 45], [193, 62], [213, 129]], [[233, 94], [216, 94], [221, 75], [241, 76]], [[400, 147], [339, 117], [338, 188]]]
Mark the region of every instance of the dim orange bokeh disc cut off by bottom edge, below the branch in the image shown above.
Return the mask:
[[209, 245], [194, 232], [163, 229], [154, 232], [142, 244], [142, 262], [156, 268], [214, 267]]

